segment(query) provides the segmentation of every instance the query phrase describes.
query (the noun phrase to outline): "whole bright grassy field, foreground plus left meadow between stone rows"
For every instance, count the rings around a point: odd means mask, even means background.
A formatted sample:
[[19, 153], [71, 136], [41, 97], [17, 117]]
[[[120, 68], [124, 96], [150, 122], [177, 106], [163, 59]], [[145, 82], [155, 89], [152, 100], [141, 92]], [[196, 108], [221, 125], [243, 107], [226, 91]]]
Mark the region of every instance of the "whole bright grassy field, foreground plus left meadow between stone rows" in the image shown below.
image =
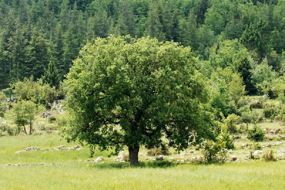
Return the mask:
[[[0, 163], [62, 163], [61, 165], [0, 166], [0, 189], [284, 189], [283, 161], [231, 162], [221, 165], [144, 161], [137, 167], [114, 163], [108, 152], [95, 152], [103, 162], [84, 161], [89, 149], [78, 151], [31, 151], [15, 154], [30, 146], [42, 149], [76, 144], [58, 134], [0, 138]], [[237, 149], [235, 152], [241, 150]], [[145, 153], [141, 149], [141, 153]], [[198, 154], [199, 155], [199, 152]], [[180, 155], [171, 155], [171, 157]], [[192, 155], [190, 156], [192, 157]], [[92, 159], [92, 158], [91, 158]], [[143, 157], [140, 157], [143, 159]], [[80, 162], [81, 160], [81, 162]]]

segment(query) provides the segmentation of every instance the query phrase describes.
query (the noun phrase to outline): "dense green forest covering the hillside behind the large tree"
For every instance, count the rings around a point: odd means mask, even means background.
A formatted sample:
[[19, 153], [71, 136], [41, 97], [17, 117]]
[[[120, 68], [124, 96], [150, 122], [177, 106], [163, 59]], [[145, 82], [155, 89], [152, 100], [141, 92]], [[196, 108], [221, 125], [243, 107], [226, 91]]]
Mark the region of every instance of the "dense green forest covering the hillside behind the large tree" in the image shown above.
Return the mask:
[[58, 89], [87, 42], [129, 34], [190, 46], [205, 78], [229, 67], [246, 94], [274, 97], [284, 8], [284, 0], [1, 0], [0, 89], [31, 75]]

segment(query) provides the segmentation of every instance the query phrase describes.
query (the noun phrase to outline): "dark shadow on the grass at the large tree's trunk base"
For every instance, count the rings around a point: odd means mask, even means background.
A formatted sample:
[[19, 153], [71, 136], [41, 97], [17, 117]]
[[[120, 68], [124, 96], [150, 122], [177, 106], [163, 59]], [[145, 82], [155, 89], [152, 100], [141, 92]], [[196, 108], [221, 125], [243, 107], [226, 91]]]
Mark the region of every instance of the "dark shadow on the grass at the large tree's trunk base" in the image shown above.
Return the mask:
[[129, 162], [95, 164], [97, 169], [126, 169], [126, 168], [172, 168], [179, 165], [223, 165], [224, 163], [179, 163], [173, 161], [146, 161], [130, 166]]

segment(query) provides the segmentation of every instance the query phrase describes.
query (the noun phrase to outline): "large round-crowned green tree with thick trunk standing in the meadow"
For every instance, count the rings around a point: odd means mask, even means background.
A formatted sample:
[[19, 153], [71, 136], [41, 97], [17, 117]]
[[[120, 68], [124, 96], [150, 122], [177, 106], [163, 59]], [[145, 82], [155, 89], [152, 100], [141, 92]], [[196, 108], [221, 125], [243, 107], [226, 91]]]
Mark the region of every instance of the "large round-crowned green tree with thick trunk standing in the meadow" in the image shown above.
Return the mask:
[[150, 37], [97, 38], [82, 48], [67, 78], [68, 141], [113, 154], [126, 145], [135, 165], [142, 145], [180, 151], [215, 137], [213, 117], [203, 110], [207, 82], [189, 47]]

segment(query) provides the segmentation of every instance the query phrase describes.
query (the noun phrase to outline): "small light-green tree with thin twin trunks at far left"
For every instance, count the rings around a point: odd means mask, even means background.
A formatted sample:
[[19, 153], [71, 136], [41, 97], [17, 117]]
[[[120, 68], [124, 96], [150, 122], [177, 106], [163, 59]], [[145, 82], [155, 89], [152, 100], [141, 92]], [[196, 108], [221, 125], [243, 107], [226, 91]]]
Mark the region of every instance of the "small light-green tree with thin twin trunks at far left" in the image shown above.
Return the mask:
[[42, 106], [38, 106], [31, 101], [21, 101], [13, 107], [14, 122], [17, 126], [23, 126], [25, 134], [27, 135], [25, 125], [30, 126], [30, 135], [32, 134], [32, 125], [34, 118], [40, 111]]

